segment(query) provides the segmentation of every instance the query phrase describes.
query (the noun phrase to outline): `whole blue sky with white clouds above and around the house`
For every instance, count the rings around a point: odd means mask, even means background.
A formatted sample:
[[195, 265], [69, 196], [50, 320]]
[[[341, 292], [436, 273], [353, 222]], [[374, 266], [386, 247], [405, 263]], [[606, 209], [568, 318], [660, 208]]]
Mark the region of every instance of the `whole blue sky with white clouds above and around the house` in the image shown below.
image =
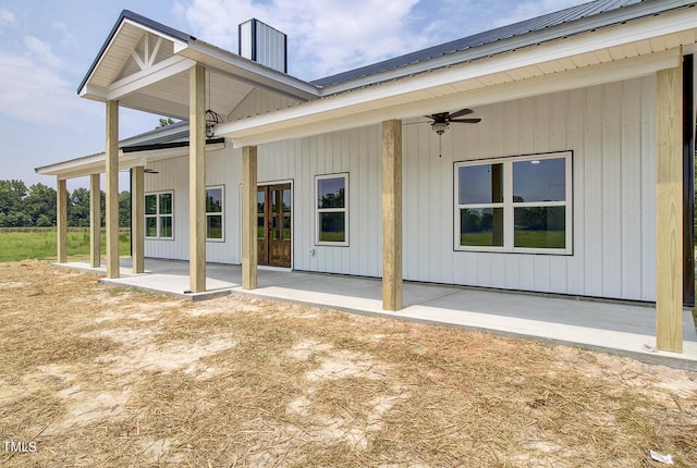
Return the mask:
[[[0, 180], [56, 187], [34, 168], [103, 151], [105, 104], [77, 87], [122, 10], [234, 52], [237, 25], [256, 17], [288, 35], [289, 74], [311, 81], [585, 2], [0, 0]], [[160, 115], [121, 109], [119, 118], [126, 138]], [[81, 186], [88, 180], [68, 183]]]

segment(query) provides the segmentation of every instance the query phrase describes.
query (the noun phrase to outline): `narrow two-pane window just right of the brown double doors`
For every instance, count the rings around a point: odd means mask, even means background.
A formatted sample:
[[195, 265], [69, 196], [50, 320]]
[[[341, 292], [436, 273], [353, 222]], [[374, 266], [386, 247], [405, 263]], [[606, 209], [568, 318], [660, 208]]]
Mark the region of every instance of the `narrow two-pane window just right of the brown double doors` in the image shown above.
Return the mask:
[[315, 177], [317, 245], [348, 245], [348, 174]]

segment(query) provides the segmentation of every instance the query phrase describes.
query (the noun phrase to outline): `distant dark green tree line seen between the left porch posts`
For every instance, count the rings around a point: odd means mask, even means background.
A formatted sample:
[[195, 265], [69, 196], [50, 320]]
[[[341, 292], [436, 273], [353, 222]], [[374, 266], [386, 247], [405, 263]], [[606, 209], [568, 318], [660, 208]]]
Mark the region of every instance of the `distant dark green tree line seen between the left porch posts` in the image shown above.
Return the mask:
[[[101, 225], [106, 196], [101, 192]], [[89, 190], [68, 190], [68, 225], [89, 225]], [[48, 227], [56, 225], [56, 189], [41, 183], [29, 187], [23, 181], [0, 181], [0, 227]], [[119, 225], [131, 226], [131, 193], [119, 194]]]

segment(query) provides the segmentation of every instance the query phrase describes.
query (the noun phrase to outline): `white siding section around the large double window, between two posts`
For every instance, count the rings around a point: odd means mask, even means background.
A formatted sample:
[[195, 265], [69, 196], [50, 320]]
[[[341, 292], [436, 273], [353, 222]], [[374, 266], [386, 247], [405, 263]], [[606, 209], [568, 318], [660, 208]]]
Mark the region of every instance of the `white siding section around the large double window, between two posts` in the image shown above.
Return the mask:
[[[655, 89], [646, 77], [478, 108], [441, 158], [428, 124], [405, 122], [404, 278], [653, 300]], [[566, 150], [573, 255], [453, 251], [454, 162]]]

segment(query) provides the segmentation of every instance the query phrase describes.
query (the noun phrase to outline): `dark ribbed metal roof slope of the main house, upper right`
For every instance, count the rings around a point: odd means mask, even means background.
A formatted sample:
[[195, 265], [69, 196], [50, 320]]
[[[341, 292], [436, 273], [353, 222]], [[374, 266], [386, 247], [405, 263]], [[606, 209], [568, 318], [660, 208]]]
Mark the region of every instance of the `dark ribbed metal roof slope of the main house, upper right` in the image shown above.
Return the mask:
[[427, 49], [418, 50], [405, 56], [395, 57], [371, 65], [362, 66], [347, 72], [338, 73], [310, 82], [318, 87], [327, 87], [339, 83], [348, 82], [355, 78], [375, 75], [389, 70], [399, 69], [409, 64], [424, 62], [437, 57], [460, 52], [466, 49], [474, 49], [497, 42], [523, 36], [528, 33], [539, 32], [541, 29], [551, 28], [565, 23], [571, 23], [585, 17], [606, 13], [612, 10], [629, 7], [636, 3], [658, 3], [663, 0], [597, 0], [589, 3], [571, 7], [565, 10], [548, 13], [542, 16], [525, 20], [508, 26], [486, 30], [450, 42], [440, 44]]

